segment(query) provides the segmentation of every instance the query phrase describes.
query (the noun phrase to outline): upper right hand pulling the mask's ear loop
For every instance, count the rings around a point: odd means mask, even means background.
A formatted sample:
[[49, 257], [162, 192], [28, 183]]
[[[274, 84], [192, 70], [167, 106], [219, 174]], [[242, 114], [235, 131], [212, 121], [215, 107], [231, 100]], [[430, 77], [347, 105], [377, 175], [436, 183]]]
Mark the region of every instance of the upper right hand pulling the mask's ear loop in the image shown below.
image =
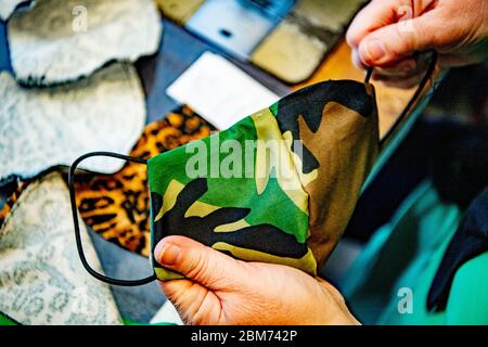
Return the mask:
[[357, 66], [375, 67], [373, 78], [413, 87], [425, 68], [416, 52], [436, 50], [442, 67], [488, 57], [488, 2], [373, 0], [354, 20], [347, 42]]

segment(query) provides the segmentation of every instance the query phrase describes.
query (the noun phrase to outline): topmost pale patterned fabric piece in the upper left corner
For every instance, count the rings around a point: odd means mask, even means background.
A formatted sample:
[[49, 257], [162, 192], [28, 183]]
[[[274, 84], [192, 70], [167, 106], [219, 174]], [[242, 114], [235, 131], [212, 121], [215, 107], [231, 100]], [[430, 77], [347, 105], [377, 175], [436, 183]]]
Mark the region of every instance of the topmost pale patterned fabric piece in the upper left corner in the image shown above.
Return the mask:
[[163, 27], [152, 0], [41, 0], [8, 25], [12, 67], [28, 86], [73, 81], [111, 61], [153, 54]]

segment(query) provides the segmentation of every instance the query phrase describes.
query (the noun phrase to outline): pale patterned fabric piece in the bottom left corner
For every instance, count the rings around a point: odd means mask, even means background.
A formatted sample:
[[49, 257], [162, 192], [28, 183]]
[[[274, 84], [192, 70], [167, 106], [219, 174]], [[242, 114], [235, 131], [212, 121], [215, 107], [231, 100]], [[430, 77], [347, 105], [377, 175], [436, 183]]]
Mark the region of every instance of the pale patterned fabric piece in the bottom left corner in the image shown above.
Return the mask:
[[[100, 270], [81, 231], [87, 259]], [[110, 287], [78, 258], [60, 174], [29, 184], [0, 229], [0, 311], [22, 324], [121, 324]]]

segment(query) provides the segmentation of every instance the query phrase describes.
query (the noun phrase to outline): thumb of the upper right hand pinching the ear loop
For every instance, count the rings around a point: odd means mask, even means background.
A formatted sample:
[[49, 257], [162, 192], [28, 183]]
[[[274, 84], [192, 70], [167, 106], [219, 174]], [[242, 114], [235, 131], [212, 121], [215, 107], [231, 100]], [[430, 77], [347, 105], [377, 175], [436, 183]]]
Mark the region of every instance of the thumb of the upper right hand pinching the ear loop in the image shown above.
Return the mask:
[[359, 57], [368, 66], [394, 65], [418, 51], [435, 47], [436, 29], [427, 12], [419, 17], [384, 26], [367, 35], [359, 44]]

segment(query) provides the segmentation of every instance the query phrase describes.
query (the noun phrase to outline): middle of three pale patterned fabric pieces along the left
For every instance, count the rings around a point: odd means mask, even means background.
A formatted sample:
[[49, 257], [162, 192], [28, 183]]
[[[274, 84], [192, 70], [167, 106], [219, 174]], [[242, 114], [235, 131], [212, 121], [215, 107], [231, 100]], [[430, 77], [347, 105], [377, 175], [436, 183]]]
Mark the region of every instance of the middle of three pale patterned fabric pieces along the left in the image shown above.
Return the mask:
[[[145, 123], [145, 97], [136, 69], [113, 64], [78, 82], [42, 89], [0, 74], [0, 183], [33, 178], [92, 151], [128, 153]], [[94, 158], [81, 168], [113, 174], [121, 160]]]

